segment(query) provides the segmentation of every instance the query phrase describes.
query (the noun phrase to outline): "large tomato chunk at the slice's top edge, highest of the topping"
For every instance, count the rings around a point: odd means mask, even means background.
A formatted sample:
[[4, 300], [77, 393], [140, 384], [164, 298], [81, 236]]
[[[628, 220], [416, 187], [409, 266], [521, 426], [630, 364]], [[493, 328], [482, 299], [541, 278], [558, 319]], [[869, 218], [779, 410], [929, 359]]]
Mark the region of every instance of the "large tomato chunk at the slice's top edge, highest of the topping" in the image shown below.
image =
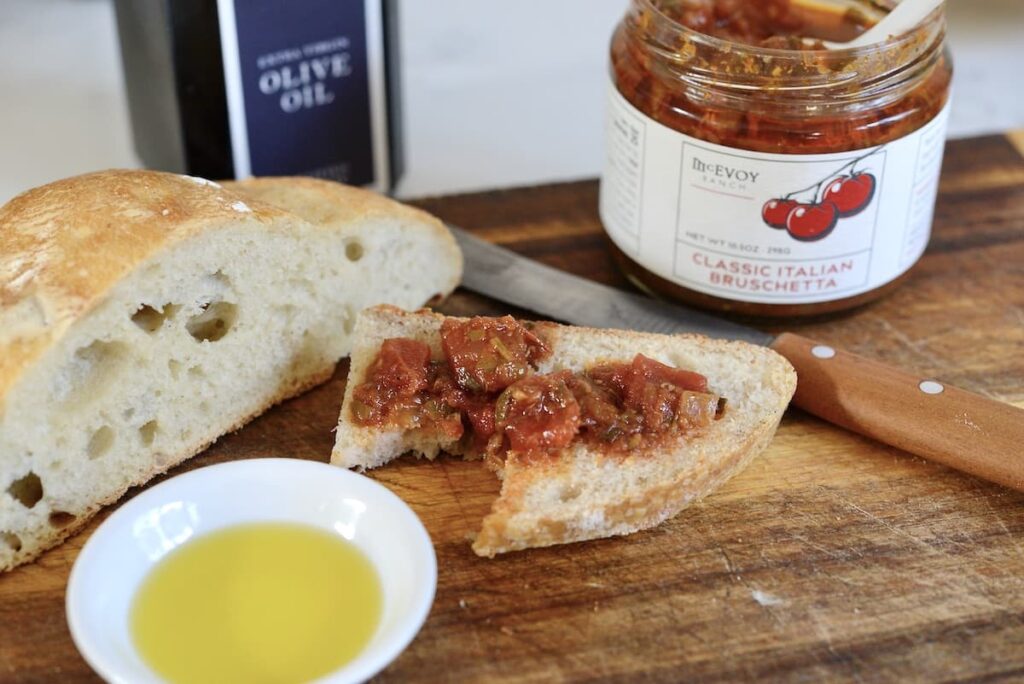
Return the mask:
[[471, 392], [500, 392], [529, 372], [547, 352], [544, 343], [512, 316], [441, 324], [441, 345], [459, 385]]

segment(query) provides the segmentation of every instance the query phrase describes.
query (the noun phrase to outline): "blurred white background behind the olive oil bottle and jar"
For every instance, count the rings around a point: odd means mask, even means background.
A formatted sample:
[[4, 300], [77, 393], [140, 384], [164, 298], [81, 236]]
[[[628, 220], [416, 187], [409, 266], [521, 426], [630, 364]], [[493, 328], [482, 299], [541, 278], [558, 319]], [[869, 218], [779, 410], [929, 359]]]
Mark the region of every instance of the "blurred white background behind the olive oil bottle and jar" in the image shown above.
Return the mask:
[[[150, 0], [140, 0], [150, 1]], [[402, 0], [402, 197], [596, 176], [627, 0]], [[1024, 2], [950, 0], [951, 136], [1024, 127]], [[0, 0], [0, 202], [138, 166], [109, 0]]]

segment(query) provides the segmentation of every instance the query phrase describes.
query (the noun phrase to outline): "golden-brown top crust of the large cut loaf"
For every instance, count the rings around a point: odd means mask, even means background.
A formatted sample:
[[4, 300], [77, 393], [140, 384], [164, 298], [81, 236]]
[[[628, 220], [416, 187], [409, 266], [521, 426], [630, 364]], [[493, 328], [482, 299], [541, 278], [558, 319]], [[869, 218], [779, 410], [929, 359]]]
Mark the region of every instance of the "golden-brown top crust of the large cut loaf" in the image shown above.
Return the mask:
[[0, 207], [0, 411], [23, 372], [138, 264], [212, 224], [287, 218], [209, 180], [159, 171], [87, 173]]

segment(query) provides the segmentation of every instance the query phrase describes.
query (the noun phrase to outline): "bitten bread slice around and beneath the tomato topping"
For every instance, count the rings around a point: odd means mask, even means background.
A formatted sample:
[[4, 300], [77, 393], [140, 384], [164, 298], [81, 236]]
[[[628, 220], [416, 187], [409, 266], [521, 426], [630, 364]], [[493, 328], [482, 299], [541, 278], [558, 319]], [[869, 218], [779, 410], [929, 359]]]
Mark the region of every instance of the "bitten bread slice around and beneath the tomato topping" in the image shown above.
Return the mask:
[[[360, 425], [351, 412], [353, 390], [384, 340], [425, 342], [432, 357], [441, 359], [443, 319], [428, 311], [406, 313], [386, 306], [359, 314], [332, 463], [366, 469], [409, 451], [428, 458], [440, 450], [459, 453], [459, 442], [442, 443], [423, 431]], [[743, 342], [542, 326], [551, 353], [539, 362], [539, 374], [581, 372], [641, 353], [706, 376], [710, 391], [726, 397], [728, 408], [700, 431], [649, 450], [609, 454], [572, 443], [553, 459], [509, 452], [500, 471], [501, 495], [473, 544], [481, 556], [627, 535], [676, 515], [768, 445], [797, 386], [796, 373], [784, 358]]]

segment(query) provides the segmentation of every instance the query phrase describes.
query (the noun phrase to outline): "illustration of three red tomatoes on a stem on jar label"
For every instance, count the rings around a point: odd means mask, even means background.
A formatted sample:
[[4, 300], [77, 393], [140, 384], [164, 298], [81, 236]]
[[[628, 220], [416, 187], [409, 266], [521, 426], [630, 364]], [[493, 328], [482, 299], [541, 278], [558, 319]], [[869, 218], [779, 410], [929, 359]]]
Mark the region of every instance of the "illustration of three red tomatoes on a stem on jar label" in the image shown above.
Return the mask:
[[826, 238], [840, 219], [856, 216], [874, 200], [878, 179], [872, 173], [857, 171], [857, 165], [884, 147], [847, 162], [813, 185], [769, 200], [761, 209], [761, 219], [771, 228], [784, 228], [800, 242]]

